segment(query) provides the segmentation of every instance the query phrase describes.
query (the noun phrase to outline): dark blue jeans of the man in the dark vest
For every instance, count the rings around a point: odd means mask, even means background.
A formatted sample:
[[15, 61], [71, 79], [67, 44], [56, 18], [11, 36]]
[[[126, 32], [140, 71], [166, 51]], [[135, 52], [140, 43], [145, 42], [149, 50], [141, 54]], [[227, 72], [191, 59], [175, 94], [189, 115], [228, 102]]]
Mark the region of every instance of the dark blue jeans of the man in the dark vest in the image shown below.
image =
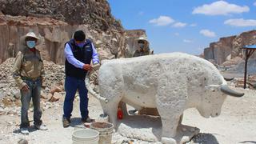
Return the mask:
[[87, 118], [88, 117], [88, 90], [86, 89], [86, 83], [84, 79], [79, 79], [79, 78], [73, 78], [66, 76], [65, 79], [65, 90], [66, 90], [66, 97], [64, 101], [64, 117], [65, 118], [70, 118], [71, 113], [73, 110], [73, 102], [74, 102], [74, 96], [75, 93], [78, 90], [79, 97], [80, 97], [80, 112], [82, 118]]

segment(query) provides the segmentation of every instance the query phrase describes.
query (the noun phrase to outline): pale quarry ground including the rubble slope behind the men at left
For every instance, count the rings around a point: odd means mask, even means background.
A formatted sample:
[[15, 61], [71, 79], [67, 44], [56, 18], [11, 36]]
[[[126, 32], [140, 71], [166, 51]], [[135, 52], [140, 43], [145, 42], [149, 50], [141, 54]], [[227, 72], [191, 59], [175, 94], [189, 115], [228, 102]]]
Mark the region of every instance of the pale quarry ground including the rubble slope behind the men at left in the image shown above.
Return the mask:
[[[45, 62], [46, 83], [42, 90], [42, 120], [49, 130], [35, 130], [33, 127], [33, 109], [30, 108], [30, 134], [19, 133], [20, 122], [20, 95], [10, 75], [11, 63], [9, 58], [0, 65], [0, 143], [17, 143], [26, 139], [29, 143], [71, 143], [71, 134], [82, 126], [79, 114], [79, 98], [75, 98], [72, 124], [69, 128], [62, 127], [62, 103], [64, 69], [53, 62]], [[223, 73], [228, 77], [235, 74]], [[240, 77], [241, 75], [239, 75]], [[236, 81], [229, 82], [236, 86]], [[184, 113], [182, 124], [195, 126], [201, 130], [191, 142], [194, 143], [256, 143], [256, 91], [243, 90], [243, 98], [228, 97], [222, 107], [222, 114], [218, 118], [202, 118], [197, 110], [190, 109]], [[97, 99], [90, 96], [90, 117], [97, 119], [102, 114], [102, 107]], [[114, 133], [112, 143], [150, 143], [122, 137]], [[152, 143], [152, 142], [151, 142]]]

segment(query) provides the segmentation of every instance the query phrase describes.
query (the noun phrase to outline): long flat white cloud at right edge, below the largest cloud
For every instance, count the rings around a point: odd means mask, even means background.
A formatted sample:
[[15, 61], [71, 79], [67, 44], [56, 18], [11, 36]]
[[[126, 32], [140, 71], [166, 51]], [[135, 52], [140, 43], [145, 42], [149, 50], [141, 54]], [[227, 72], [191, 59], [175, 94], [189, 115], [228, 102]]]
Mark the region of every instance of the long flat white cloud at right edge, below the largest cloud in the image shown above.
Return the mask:
[[256, 26], [256, 19], [228, 19], [224, 22], [226, 25], [230, 26], [241, 26], [241, 27], [246, 27], [246, 26]]

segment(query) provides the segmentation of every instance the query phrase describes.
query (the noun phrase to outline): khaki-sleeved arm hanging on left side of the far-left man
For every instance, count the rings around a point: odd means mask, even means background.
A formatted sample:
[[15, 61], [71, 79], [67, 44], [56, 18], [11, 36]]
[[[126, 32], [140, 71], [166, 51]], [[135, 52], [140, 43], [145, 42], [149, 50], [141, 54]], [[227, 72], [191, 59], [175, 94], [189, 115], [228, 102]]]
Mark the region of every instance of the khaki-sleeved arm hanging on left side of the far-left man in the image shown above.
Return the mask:
[[26, 86], [26, 83], [23, 82], [22, 77], [20, 75], [20, 69], [22, 67], [22, 52], [18, 52], [15, 62], [14, 62], [14, 67], [12, 70], [13, 78], [15, 82], [18, 85], [18, 89], [22, 90], [24, 86]]

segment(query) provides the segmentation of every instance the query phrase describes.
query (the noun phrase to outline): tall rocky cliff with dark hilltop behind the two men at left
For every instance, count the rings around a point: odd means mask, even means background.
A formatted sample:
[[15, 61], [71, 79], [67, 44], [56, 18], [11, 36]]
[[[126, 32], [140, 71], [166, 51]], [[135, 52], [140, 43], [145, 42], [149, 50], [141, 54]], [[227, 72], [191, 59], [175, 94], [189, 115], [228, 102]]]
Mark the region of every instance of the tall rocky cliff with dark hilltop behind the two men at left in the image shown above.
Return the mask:
[[0, 10], [0, 33], [5, 34], [0, 37], [0, 63], [15, 57], [20, 37], [29, 31], [42, 39], [38, 46], [42, 58], [58, 64], [65, 62], [64, 45], [75, 30], [86, 32], [101, 60], [127, 57], [134, 39], [145, 35], [145, 30], [123, 30], [105, 0], [0, 1]]

